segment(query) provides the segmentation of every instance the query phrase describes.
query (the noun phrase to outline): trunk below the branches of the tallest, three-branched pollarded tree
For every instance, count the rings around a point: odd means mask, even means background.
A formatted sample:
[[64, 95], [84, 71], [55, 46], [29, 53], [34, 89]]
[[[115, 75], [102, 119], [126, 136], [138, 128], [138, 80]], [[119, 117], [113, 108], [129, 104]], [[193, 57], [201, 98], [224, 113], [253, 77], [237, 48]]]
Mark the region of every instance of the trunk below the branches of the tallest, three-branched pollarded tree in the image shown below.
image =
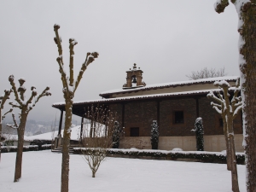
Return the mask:
[[68, 192], [69, 146], [70, 146], [71, 123], [72, 123], [72, 108], [73, 108], [72, 100], [66, 99], [65, 128], [63, 132], [63, 143], [62, 143], [61, 192]]

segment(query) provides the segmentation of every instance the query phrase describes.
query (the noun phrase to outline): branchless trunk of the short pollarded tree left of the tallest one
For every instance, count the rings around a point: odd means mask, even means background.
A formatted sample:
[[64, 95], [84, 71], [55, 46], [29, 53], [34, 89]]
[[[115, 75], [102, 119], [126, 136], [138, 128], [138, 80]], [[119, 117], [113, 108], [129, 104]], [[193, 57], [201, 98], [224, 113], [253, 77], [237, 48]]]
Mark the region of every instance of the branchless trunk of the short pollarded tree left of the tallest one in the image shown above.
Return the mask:
[[15, 182], [18, 182], [21, 177], [22, 168], [22, 154], [23, 154], [23, 143], [24, 143], [24, 132], [26, 127], [27, 113], [21, 110], [20, 125], [18, 131], [18, 147], [15, 162]]

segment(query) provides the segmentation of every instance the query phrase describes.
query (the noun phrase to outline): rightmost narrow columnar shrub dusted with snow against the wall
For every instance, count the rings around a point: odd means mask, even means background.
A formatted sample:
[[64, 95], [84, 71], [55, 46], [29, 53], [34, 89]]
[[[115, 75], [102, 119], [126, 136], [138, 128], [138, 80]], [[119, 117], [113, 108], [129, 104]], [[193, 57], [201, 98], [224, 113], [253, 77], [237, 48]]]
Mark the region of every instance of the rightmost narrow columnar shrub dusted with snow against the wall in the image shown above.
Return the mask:
[[195, 119], [196, 148], [198, 151], [204, 151], [204, 128], [201, 117]]

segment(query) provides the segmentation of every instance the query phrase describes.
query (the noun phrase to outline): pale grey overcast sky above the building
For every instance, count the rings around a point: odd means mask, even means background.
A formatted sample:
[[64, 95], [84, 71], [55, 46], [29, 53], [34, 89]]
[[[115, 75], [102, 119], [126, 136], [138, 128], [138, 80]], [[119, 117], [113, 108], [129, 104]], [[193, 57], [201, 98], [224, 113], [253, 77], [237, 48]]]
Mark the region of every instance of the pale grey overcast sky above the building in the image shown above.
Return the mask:
[[86, 52], [100, 54], [85, 71], [74, 101], [100, 99], [102, 91], [121, 88], [133, 63], [143, 70], [146, 84], [188, 80], [186, 74], [202, 67], [225, 67], [229, 75], [239, 75], [236, 9], [230, 4], [219, 15], [214, 2], [0, 1], [0, 94], [10, 88], [10, 74], [16, 84], [26, 79], [27, 97], [32, 85], [38, 92], [49, 85], [52, 96], [41, 98], [28, 119], [51, 121], [56, 112], [59, 119], [59, 110], [51, 107], [63, 101], [55, 23], [61, 26], [66, 67], [68, 39], [79, 43], [75, 77]]

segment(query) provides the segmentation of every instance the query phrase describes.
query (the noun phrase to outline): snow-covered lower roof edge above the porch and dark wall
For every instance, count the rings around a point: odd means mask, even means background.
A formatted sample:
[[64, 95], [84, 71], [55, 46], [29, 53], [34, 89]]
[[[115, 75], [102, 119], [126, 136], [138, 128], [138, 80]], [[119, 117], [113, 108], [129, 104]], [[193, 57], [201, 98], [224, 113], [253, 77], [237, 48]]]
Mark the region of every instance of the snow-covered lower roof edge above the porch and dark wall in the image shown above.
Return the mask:
[[[230, 87], [230, 90], [235, 89]], [[144, 95], [144, 96], [125, 96], [125, 97], [117, 97], [117, 98], [109, 98], [109, 99], [100, 99], [100, 100], [87, 100], [87, 101], [77, 101], [73, 102], [73, 105], [79, 104], [93, 104], [93, 103], [107, 103], [107, 102], [123, 102], [130, 100], [145, 100], [152, 98], [161, 98], [161, 97], [172, 97], [172, 96], [195, 96], [195, 95], [205, 95], [210, 91], [216, 92], [219, 89], [211, 89], [211, 90], [190, 90], [190, 91], [182, 91], [182, 92], [174, 92], [174, 93], [161, 93], [161, 94], [152, 94], [152, 95]], [[55, 102], [52, 104], [54, 108], [58, 108], [58, 106], [64, 106], [65, 102]]]

